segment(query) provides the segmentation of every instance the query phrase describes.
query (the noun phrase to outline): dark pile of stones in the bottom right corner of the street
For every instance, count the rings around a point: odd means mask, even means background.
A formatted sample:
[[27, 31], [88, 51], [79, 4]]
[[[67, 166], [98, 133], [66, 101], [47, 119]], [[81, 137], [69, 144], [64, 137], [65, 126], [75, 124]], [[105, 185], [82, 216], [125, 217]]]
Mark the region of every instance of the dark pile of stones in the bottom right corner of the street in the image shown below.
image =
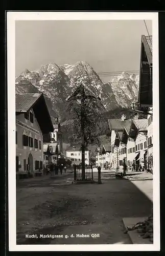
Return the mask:
[[144, 222], [138, 222], [132, 227], [127, 227], [127, 231], [137, 230], [139, 237], [147, 238], [153, 243], [153, 216], [149, 216]]

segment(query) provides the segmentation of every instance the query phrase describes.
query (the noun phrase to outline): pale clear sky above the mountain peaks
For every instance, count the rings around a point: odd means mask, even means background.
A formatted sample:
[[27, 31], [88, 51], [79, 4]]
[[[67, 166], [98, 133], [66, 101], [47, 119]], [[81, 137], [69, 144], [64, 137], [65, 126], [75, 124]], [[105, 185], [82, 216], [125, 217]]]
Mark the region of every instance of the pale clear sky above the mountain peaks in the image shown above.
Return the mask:
[[[152, 35], [152, 21], [146, 24]], [[144, 20], [16, 20], [15, 75], [77, 61], [97, 73], [137, 71], [143, 34], [148, 35]]]

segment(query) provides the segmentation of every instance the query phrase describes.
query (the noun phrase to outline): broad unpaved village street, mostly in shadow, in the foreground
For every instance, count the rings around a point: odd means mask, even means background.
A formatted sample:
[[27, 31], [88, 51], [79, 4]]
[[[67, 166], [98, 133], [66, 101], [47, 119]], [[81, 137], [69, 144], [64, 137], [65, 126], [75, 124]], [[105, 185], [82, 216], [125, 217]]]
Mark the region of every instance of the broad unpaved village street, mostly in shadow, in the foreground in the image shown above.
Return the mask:
[[[152, 175], [134, 173], [116, 179], [113, 170], [101, 175], [102, 184], [73, 184], [74, 174], [69, 171], [53, 178], [20, 180], [17, 244], [130, 244], [122, 219], [151, 214]], [[97, 181], [96, 170], [93, 176]], [[92, 238], [94, 233], [98, 237]], [[40, 234], [63, 238], [40, 238]], [[89, 237], [80, 238], [80, 234]]]

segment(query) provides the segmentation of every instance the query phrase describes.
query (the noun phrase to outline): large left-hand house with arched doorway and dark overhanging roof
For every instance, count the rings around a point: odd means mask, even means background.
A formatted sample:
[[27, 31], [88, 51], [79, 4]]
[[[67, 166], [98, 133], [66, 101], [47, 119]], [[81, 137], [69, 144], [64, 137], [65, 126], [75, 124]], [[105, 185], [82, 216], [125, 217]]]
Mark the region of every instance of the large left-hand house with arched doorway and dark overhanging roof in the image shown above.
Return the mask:
[[[40, 112], [40, 111], [42, 112]], [[47, 125], [43, 123], [43, 119]], [[16, 174], [34, 176], [43, 170], [43, 133], [53, 130], [43, 94], [16, 95]]]

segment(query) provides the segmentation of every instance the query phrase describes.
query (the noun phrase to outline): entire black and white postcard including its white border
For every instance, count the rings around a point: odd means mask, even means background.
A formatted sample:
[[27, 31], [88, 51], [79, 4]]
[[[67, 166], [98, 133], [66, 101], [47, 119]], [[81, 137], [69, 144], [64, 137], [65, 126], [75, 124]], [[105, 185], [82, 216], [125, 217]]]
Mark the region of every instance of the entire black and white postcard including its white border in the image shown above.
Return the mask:
[[158, 13], [8, 12], [10, 251], [160, 249]]

